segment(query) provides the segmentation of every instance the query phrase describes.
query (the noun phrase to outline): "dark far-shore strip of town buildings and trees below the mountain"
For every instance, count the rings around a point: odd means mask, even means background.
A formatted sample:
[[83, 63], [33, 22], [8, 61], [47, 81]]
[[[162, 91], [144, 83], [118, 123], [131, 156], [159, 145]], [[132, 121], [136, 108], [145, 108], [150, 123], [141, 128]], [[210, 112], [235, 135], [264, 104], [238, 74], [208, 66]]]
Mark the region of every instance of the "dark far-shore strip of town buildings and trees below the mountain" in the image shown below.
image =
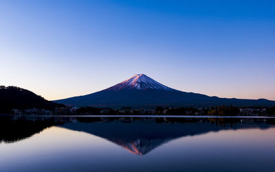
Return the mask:
[[217, 116], [275, 116], [275, 108], [238, 108], [234, 106], [217, 106], [212, 108], [162, 108], [133, 109], [122, 108], [92, 108], [66, 106], [54, 110], [30, 108], [26, 110], [12, 109], [11, 114], [38, 114], [38, 115], [217, 115]]

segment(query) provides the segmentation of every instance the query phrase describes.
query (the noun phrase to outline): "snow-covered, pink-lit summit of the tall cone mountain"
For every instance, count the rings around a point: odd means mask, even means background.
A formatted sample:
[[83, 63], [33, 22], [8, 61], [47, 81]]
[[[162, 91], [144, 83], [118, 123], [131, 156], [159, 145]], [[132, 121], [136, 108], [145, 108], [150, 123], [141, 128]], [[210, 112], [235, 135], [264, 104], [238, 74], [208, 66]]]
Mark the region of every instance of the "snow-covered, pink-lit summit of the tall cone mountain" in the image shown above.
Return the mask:
[[116, 84], [107, 90], [122, 90], [122, 89], [137, 89], [137, 90], [146, 90], [146, 89], [157, 89], [157, 90], [173, 90], [168, 86], [164, 86], [159, 82], [156, 82], [151, 77], [148, 77], [144, 74], [133, 75], [129, 79], [126, 79], [120, 84]]

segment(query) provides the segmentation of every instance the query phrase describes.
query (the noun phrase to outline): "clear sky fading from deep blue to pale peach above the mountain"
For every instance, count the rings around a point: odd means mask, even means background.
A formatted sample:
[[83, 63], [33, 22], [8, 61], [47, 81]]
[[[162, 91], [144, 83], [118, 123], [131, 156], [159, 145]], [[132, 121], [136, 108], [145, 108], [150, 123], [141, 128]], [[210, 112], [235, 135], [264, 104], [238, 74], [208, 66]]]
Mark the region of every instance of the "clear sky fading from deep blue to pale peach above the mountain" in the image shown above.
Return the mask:
[[46, 99], [137, 73], [182, 91], [275, 100], [275, 1], [0, 1], [0, 85]]

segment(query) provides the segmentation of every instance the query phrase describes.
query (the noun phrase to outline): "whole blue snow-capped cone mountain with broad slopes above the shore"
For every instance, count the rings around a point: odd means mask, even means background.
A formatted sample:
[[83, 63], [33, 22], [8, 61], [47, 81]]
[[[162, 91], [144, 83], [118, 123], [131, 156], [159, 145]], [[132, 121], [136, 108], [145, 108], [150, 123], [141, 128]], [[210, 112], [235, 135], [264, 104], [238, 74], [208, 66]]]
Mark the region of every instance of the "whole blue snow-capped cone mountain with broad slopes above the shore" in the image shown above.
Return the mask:
[[137, 74], [115, 86], [89, 95], [54, 101], [73, 106], [95, 106], [118, 108], [155, 108], [156, 106], [209, 107], [232, 106], [275, 106], [275, 101], [267, 99], [227, 99], [209, 97], [197, 93], [186, 93], [156, 82], [144, 74]]

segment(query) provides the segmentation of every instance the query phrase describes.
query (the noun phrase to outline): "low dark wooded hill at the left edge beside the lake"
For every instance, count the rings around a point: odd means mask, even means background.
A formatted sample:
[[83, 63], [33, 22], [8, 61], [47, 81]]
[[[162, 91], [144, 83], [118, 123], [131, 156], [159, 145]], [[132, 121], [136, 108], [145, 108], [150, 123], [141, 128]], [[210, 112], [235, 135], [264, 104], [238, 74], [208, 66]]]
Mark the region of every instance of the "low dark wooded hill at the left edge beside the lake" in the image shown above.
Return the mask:
[[54, 110], [56, 107], [63, 106], [52, 101], [47, 101], [43, 97], [16, 86], [0, 86], [0, 112], [10, 112], [13, 108], [17, 109], [47, 109]]

